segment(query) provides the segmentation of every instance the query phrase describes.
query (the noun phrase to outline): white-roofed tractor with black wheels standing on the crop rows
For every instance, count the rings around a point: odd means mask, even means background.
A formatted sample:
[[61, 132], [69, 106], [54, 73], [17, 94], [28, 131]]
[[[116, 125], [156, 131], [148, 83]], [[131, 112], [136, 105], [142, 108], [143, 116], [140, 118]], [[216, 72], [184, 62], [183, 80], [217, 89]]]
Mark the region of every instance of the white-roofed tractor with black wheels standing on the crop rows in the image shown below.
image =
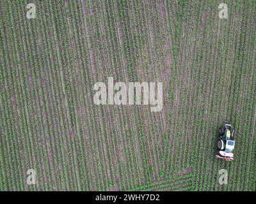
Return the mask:
[[234, 154], [232, 151], [235, 147], [234, 128], [230, 122], [224, 122], [224, 127], [220, 128], [220, 140], [218, 140], [217, 158], [225, 159], [225, 161], [233, 161]]

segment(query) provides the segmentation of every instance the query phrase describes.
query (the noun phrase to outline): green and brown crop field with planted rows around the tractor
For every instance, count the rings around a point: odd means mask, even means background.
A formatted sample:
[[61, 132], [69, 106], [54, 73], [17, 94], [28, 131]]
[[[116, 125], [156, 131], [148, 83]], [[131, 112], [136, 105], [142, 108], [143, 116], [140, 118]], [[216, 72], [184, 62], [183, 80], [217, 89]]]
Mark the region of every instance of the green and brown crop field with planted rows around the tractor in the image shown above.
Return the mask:
[[[255, 0], [1, 0], [0, 13], [0, 191], [256, 190]], [[163, 108], [96, 105], [109, 77], [163, 82]], [[232, 162], [216, 158], [224, 120]]]

